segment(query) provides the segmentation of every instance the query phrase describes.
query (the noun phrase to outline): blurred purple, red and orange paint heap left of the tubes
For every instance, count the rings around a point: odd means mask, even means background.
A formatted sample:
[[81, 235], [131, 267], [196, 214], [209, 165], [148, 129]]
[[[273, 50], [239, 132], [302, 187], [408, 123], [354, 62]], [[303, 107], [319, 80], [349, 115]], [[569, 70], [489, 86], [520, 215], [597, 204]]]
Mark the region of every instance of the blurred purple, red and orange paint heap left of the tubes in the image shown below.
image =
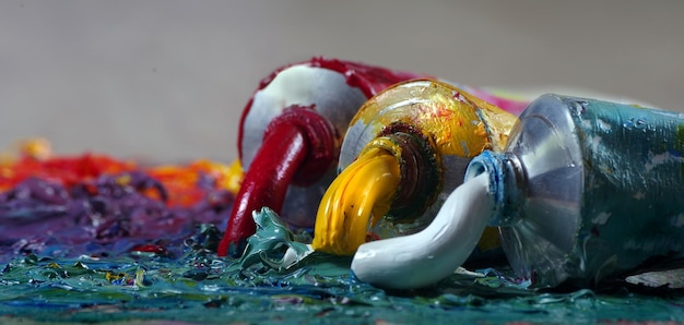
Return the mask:
[[198, 224], [222, 224], [240, 176], [235, 164], [142, 167], [97, 154], [25, 156], [1, 168], [0, 262], [26, 254], [176, 254], [166, 248], [170, 241], [182, 241]]

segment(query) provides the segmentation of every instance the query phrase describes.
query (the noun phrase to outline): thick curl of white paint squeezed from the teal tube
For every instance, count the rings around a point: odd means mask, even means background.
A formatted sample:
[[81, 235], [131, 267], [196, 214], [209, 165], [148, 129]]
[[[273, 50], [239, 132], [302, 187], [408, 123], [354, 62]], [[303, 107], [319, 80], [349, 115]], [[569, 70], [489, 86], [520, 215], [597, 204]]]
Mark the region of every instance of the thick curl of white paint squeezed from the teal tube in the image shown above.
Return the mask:
[[418, 233], [361, 245], [352, 261], [356, 277], [381, 288], [415, 289], [453, 274], [477, 244], [494, 209], [488, 182], [483, 173], [458, 186]]

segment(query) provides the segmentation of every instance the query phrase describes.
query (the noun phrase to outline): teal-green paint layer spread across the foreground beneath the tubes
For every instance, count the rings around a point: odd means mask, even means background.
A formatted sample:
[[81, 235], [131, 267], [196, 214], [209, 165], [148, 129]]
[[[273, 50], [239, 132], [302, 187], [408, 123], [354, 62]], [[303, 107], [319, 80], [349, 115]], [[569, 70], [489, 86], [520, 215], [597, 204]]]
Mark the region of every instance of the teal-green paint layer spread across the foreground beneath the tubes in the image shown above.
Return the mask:
[[[535, 292], [509, 270], [455, 274], [436, 288], [391, 292], [357, 281], [350, 258], [310, 253], [275, 214], [256, 216], [258, 233], [243, 260], [201, 246], [178, 257], [121, 255], [40, 258], [2, 266], [0, 322], [149, 322], [191, 324], [598, 323], [684, 320], [680, 296], [627, 289]], [[211, 227], [208, 227], [211, 228]], [[201, 229], [198, 228], [198, 229]], [[199, 231], [199, 230], [198, 230]], [[293, 248], [298, 258], [279, 254]], [[257, 257], [258, 256], [258, 257]], [[288, 267], [284, 267], [288, 266]], [[612, 293], [611, 293], [612, 292]], [[662, 293], [662, 292], [660, 292]]]

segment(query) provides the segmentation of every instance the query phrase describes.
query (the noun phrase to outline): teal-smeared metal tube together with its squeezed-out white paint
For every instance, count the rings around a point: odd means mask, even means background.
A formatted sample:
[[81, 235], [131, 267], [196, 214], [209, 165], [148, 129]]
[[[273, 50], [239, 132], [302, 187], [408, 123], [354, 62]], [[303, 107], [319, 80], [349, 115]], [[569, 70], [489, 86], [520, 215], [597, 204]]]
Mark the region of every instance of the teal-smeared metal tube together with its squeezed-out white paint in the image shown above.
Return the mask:
[[435, 285], [465, 261], [487, 224], [533, 288], [591, 288], [667, 267], [684, 256], [682, 125], [673, 111], [544, 95], [522, 112], [504, 152], [469, 162], [433, 224], [363, 244], [352, 270], [378, 287]]

